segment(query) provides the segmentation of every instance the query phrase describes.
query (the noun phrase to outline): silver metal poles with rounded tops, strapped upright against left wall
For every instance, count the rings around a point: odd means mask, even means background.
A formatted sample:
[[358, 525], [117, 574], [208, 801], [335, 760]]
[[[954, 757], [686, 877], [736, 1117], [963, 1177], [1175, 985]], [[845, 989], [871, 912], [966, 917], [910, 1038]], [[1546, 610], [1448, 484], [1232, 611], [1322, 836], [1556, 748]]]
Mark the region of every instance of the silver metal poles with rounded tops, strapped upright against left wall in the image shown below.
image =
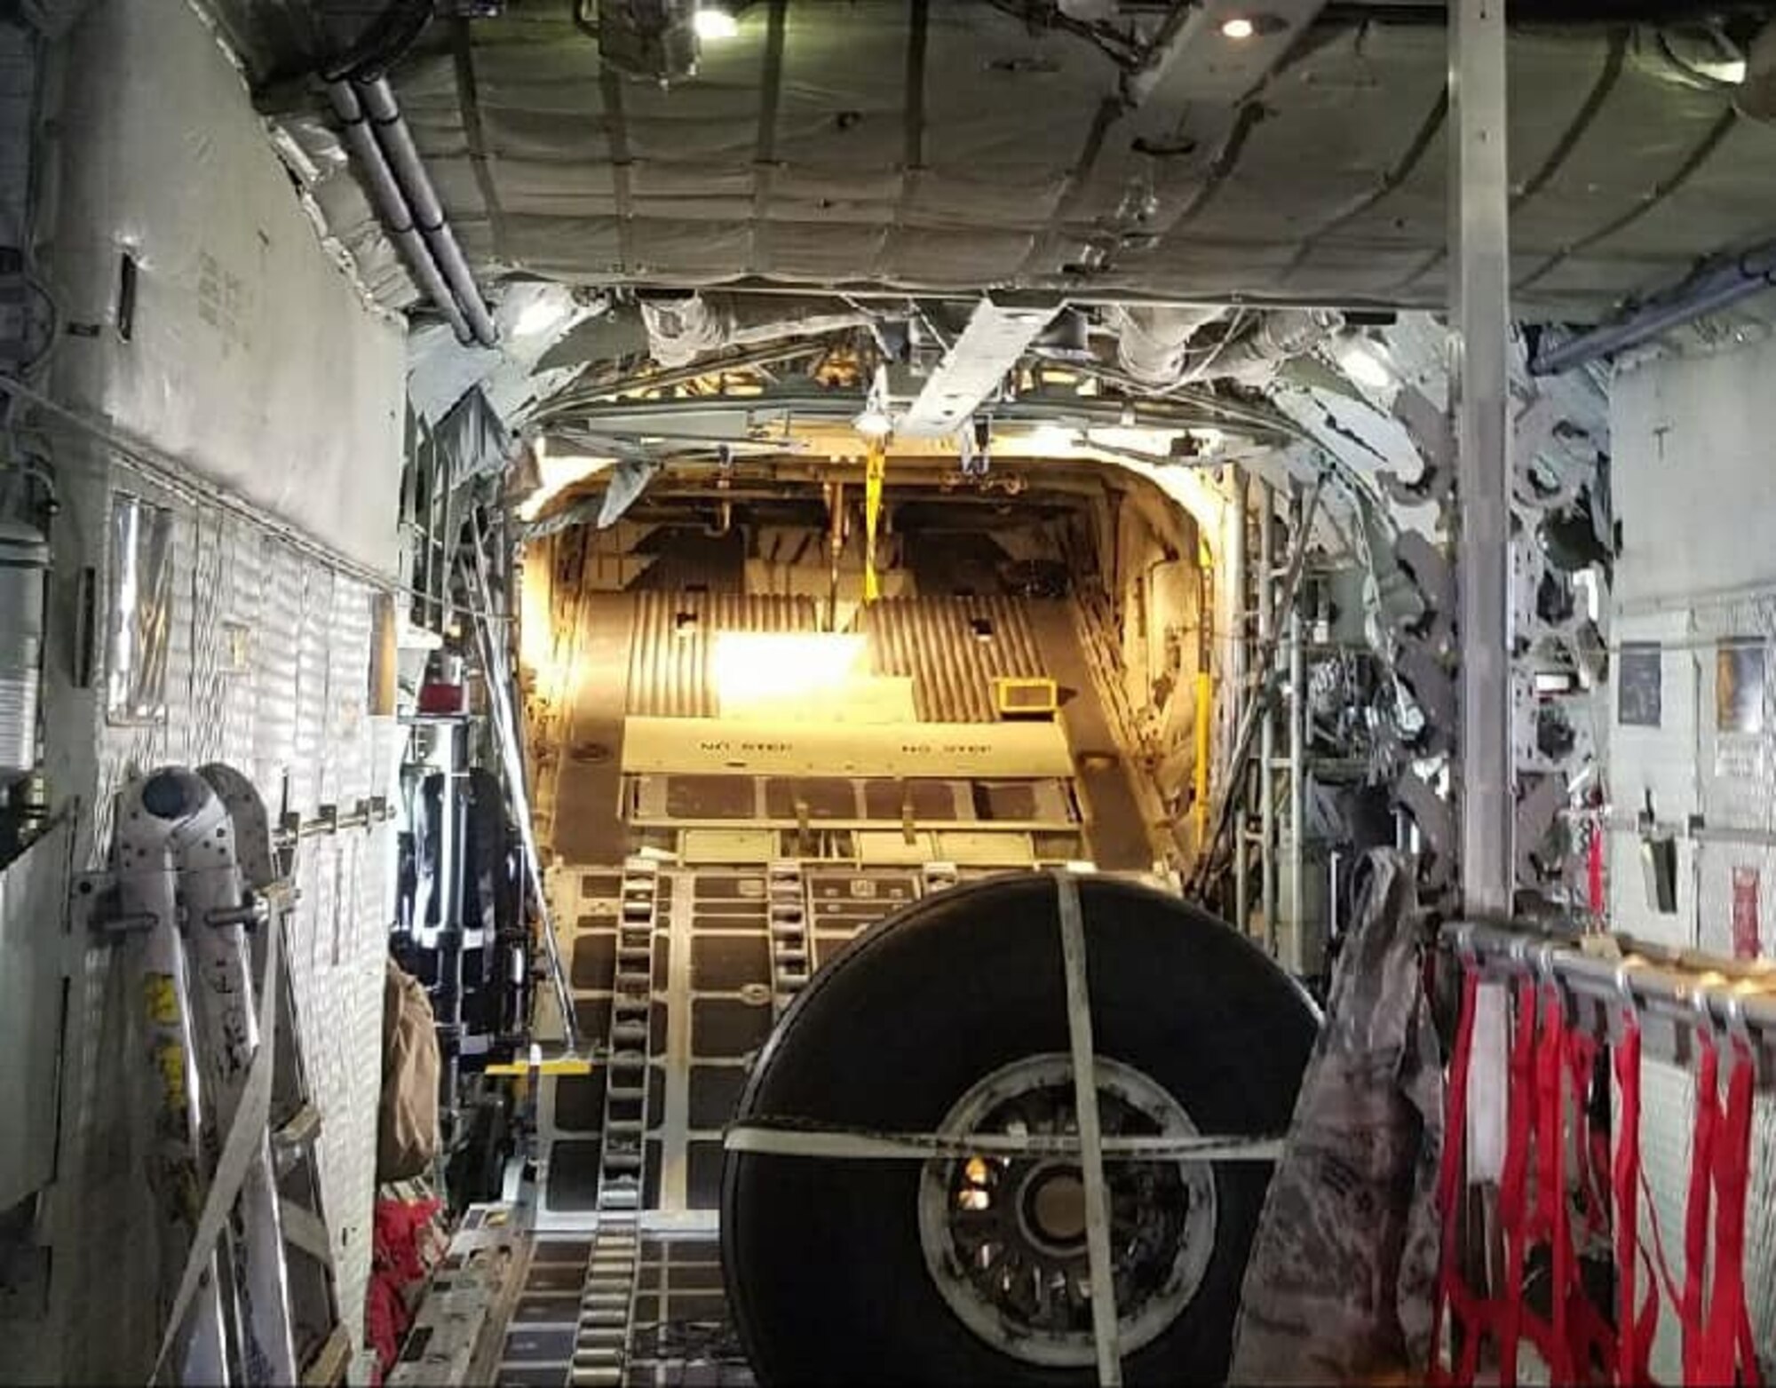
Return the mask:
[[252, 783], [213, 763], [126, 785], [110, 870], [76, 880], [75, 919], [128, 948], [151, 1038], [155, 1381], [332, 1384], [348, 1367], [320, 1111], [272, 958], [288, 955], [289, 877]]

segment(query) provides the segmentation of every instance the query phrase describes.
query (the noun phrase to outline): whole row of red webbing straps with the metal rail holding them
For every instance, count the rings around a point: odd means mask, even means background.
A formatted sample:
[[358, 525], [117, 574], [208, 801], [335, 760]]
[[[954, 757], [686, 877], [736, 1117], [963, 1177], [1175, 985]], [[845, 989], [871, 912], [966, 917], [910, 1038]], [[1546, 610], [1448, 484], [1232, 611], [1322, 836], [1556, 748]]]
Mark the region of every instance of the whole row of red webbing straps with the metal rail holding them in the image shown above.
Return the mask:
[[[1492, 934], [1456, 932], [1462, 1001], [1431, 1383], [1655, 1383], [1662, 1315], [1680, 1342], [1677, 1374], [1666, 1368], [1664, 1381], [1762, 1383], [1746, 1305], [1746, 1196], [1753, 1097], [1769, 1056], [1753, 1005], [1705, 987], [1707, 974], [1673, 987], [1632, 960], [1602, 964]], [[1488, 1006], [1504, 1022], [1502, 1054], [1490, 1060], [1476, 1044]], [[1684, 1226], [1673, 1239], [1641, 1168], [1648, 1038], [1694, 1079]], [[1469, 1116], [1488, 1100], [1488, 1116], [1502, 1102], [1502, 1164], [1476, 1173]], [[1494, 1239], [1502, 1258], [1488, 1282], [1481, 1251]], [[1677, 1271], [1668, 1242], [1682, 1255]]]

